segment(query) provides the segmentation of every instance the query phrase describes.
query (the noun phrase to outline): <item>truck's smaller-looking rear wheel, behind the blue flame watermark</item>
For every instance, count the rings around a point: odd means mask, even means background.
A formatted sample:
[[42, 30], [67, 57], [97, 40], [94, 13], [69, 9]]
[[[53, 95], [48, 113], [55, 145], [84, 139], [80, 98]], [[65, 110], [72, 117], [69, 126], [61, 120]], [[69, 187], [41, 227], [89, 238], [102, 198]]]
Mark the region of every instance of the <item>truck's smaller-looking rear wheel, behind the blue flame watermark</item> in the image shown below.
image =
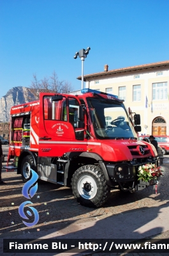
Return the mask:
[[31, 179], [32, 177], [31, 169], [35, 170], [35, 166], [34, 166], [33, 157], [29, 155], [24, 157], [21, 163], [21, 175], [22, 175], [22, 180], [24, 182], [27, 182], [27, 180]]

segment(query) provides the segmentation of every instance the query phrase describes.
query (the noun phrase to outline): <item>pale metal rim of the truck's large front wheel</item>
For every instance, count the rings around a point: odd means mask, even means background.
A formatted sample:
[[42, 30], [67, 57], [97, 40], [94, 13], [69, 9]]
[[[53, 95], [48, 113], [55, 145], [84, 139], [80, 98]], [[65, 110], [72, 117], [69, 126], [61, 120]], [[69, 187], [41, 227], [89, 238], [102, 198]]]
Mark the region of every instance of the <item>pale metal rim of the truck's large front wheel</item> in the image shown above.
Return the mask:
[[88, 176], [82, 176], [77, 182], [78, 193], [85, 199], [92, 199], [97, 193], [96, 181]]

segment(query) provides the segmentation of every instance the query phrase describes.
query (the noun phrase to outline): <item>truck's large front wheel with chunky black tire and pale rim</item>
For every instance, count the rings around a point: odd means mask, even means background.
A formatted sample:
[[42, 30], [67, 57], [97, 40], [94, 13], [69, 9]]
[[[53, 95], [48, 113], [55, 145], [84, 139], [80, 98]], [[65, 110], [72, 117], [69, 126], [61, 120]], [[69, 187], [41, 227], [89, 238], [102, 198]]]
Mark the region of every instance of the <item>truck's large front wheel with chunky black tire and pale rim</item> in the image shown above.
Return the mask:
[[88, 207], [103, 205], [110, 195], [100, 166], [85, 165], [78, 168], [71, 179], [71, 188], [77, 202]]

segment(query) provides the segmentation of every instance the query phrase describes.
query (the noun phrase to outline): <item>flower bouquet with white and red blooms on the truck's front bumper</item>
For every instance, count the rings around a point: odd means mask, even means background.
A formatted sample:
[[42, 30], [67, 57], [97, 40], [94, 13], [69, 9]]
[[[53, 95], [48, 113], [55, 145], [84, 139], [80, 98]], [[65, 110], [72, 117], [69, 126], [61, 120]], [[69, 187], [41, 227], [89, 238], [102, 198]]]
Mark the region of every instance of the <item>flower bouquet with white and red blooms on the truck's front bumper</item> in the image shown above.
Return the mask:
[[145, 164], [138, 168], [138, 180], [143, 182], [149, 182], [150, 180], [157, 180], [161, 177], [163, 171], [160, 170], [160, 166], [156, 164]]

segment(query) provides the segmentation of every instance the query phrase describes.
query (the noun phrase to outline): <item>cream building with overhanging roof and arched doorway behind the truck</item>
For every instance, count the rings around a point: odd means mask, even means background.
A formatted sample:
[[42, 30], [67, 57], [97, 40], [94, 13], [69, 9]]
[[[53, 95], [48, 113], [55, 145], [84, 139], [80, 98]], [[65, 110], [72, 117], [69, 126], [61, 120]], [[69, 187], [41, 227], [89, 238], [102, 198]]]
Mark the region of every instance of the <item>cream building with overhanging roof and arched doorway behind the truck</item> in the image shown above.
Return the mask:
[[118, 95], [140, 114], [140, 135], [169, 135], [169, 61], [114, 70], [105, 65], [103, 72], [85, 75], [84, 81], [85, 88]]

